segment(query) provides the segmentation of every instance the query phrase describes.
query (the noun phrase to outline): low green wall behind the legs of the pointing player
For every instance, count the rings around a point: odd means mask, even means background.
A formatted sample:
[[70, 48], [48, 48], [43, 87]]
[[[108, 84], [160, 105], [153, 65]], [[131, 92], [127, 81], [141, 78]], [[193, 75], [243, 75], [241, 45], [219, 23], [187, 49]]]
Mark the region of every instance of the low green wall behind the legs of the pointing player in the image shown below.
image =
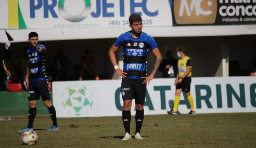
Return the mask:
[[[52, 92], [50, 92], [50, 95], [53, 98]], [[28, 115], [28, 92], [0, 92], [0, 96], [0, 116]], [[42, 99], [37, 101], [36, 115], [49, 115], [48, 109], [45, 107]]]

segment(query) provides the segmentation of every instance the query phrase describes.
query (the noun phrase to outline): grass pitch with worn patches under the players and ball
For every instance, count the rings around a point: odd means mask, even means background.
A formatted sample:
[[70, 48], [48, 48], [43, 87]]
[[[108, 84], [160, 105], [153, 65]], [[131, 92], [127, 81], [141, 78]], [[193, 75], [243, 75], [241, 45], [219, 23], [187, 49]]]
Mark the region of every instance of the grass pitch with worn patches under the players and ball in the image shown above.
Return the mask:
[[[256, 147], [256, 113], [146, 115], [145, 140], [122, 141], [122, 117], [58, 118], [59, 131], [47, 131], [50, 117], [36, 118], [36, 147]], [[24, 147], [27, 119], [0, 121], [0, 147]], [[70, 127], [73, 124], [78, 127]], [[132, 116], [131, 135], [135, 132]], [[27, 147], [27, 146], [26, 146]]]

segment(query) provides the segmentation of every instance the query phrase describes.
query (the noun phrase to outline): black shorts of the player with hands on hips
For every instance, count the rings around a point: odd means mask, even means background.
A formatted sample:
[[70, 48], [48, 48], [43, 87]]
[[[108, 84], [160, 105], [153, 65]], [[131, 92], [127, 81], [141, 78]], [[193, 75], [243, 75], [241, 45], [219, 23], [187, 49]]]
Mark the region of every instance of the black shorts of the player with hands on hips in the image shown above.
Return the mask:
[[145, 78], [123, 78], [122, 79], [122, 98], [123, 101], [135, 99], [136, 103], [144, 104], [147, 85], [143, 84]]

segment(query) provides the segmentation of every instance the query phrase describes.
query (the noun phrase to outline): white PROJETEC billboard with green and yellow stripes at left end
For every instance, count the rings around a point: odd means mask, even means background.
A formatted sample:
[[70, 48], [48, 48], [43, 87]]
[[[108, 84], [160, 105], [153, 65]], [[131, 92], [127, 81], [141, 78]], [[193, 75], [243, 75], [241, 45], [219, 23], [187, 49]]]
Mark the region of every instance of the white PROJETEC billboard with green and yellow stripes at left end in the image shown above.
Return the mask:
[[[171, 26], [171, 0], [1, 0], [0, 29], [112, 28], [142, 16], [144, 26]], [[15, 10], [15, 11], [10, 11]], [[164, 20], [164, 21], [163, 21]]]

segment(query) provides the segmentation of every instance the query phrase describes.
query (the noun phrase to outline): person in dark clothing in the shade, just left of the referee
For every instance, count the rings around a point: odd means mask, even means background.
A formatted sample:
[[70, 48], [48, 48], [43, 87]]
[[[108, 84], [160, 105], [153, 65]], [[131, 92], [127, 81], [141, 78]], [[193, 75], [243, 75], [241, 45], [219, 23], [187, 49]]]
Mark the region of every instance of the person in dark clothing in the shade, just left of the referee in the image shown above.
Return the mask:
[[159, 71], [162, 72], [163, 78], [176, 77], [178, 73], [178, 61], [172, 58], [172, 51], [166, 52], [167, 59], [162, 60]]

